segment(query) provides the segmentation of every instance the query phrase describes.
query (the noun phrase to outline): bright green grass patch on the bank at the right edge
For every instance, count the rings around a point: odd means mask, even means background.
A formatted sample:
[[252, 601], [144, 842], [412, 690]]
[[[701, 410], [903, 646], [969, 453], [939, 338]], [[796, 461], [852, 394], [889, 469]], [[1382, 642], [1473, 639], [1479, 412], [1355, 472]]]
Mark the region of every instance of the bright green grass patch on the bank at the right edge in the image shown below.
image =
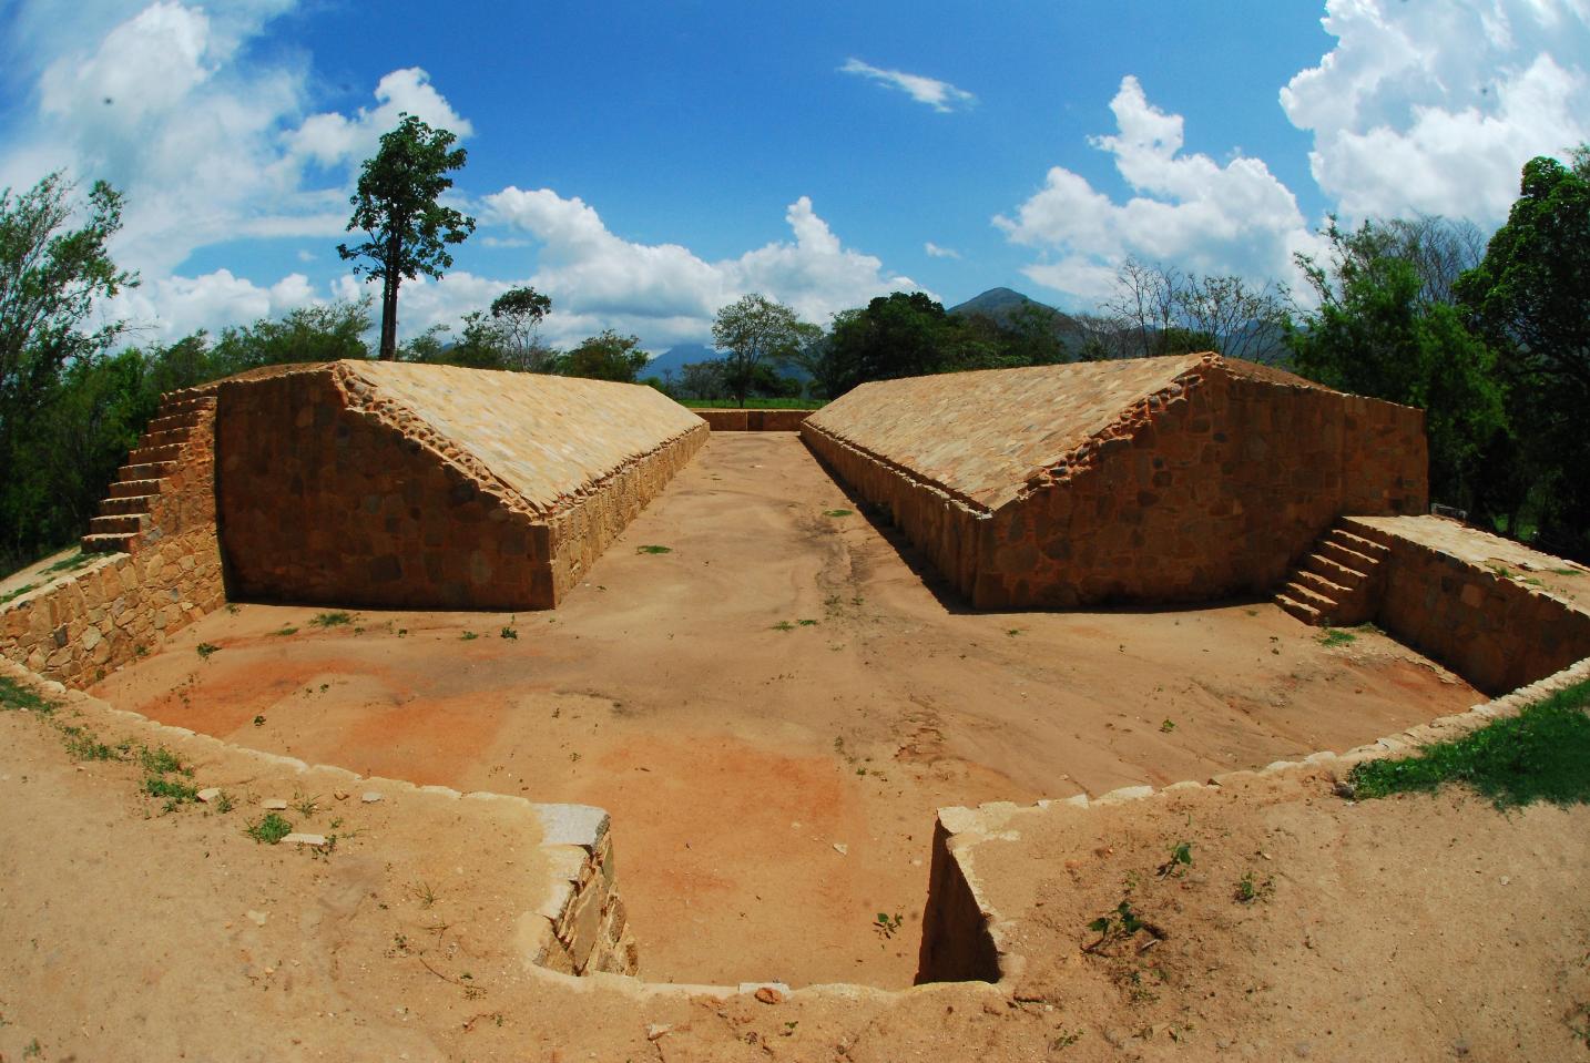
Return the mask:
[[1498, 809], [1536, 801], [1590, 804], [1590, 680], [1507, 720], [1429, 745], [1415, 756], [1364, 761], [1348, 782], [1356, 798], [1434, 791], [1466, 783]]

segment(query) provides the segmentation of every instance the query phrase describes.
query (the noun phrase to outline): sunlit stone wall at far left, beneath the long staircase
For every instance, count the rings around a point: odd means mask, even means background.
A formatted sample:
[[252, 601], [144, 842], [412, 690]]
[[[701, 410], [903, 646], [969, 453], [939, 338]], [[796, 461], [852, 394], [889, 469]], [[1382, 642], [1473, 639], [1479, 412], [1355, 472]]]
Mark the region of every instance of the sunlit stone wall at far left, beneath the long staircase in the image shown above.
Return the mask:
[[0, 655], [70, 686], [154, 651], [226, 602], [215, 521], [215, 413], [204, 410], [151, 504], [135, 553], [24, 594], [0, 610]]

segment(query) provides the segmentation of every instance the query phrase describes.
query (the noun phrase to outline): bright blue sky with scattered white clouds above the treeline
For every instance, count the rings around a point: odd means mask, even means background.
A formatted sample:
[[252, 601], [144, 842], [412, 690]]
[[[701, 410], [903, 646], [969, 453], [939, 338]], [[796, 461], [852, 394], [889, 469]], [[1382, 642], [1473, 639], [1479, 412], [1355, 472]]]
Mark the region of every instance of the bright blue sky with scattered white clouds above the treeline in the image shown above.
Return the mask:
[[480, 219], [405, 334], [533, 283], [549, 340], [650, 350], [747, 291], [825, 323], [1089, 308], [1127, 256], [1288, 281], [1326, 211], [1490, 227], [1590, 138], [1587, 0], [5, 0], [0, 48], [0, 184], [127, 192], [107, 311], [148, 338], [358, 294], [334, 248], [402, 110], [463, 135]]

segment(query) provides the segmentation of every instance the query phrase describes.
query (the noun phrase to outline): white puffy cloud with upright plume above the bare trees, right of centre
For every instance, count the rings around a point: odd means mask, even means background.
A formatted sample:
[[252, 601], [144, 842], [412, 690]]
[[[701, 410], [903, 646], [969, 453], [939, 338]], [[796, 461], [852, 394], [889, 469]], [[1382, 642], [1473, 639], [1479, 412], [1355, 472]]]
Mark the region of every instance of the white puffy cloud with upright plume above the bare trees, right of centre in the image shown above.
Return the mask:
[[1080, 300], [1108, 294], [1129, 256], [1199, 273], [1291, 276], [1293, 253], [1313, 237], [1262, 160], [1183, 154], [1181, 116], [1154, 108], [1137, 78], [1121, 81], [1110, 110], [1118, 132], [1092, 145], [1115, 157], [1134, 194], [1115, 203], [1081, 175], [1051, 168], [1014, 218], [994, 218], [1008, 240], [1043, 254], [1027, 276]]

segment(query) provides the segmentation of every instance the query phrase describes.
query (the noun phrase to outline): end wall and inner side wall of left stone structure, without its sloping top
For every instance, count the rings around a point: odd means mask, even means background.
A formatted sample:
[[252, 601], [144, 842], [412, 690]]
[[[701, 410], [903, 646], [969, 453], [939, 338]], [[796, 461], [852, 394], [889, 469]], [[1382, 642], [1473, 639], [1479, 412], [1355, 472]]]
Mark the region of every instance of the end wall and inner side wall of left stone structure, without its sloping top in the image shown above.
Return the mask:
[[[708, 437], [688, 418], [577, 493], [531, 499], [375, 380], [316, 365], [221, 385], [218, 493], [234, 594], [550, 609]], [[437, 383], [444, 399], [450, 383]]]

